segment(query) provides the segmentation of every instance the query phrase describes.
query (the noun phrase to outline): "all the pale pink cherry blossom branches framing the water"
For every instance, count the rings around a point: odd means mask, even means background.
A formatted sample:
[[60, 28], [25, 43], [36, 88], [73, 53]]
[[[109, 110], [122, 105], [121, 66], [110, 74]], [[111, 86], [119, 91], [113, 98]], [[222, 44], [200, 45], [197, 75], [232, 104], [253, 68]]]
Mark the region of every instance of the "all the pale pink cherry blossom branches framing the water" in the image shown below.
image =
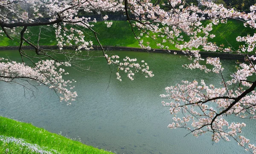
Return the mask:
[[[15, 79], [28, 78], [49, 86], [61, 93], [61, 100], [74, 100], [76, 92], [71, 92], [67, 84], [72, 80], [62, 80], [64, 70], [59, 66], [70, 66], [73, 60], [90, 58], [87, 54], [92, 49], [93, 42], [84, 40], [84, 29], [93, 32], [102, 49], [102, 57], [109, 65], [116, 65], [119, 71], [124, 71], [133, 80], [134, 73], [143, 72], [146, 77], [152, 77], [152, 71], [144, 61], [135, 63], [136, 58], [125, 57], [119, 60], [118, 55], [105, 54], [100, 44], [98, 34], [93, 30], [95, 19], [78, 17], [79, 10], [97, 13], [123, 11], [131, 25], [138, 44], [145, 50], [151, 50], [150, 42], [145, 42], [141, 36], [150, 37], [157, 42], [157, 46], [168, 51], [168, 44], [175, 44], [191, 61], [184, 64], [184, 68], [199, 69], [205, 73], [218, 74], [220, 85], [207, 85], [204, 80], [192, 82], [182, 81], [180, 84], [166, 87], [166, 93], [160, 96], [165, 99], [162, 103], [170, 108], [173, 114], [173, 123], [169, 128], [185, 128], [194, 136], [207, 132], [212, 133], [212, 140], [234, 139], [245, 150], [256, 153], [256, 146], [246, 137], [241, 136], [245, 123], [228, 122], [225, 117], [235, 115], [255, 119], [256, 109], [256, 65], [255, 46], [256, 34], [238, 36], [237, 42], [243, 45], [234, 48], [232, 44], [217, 45], [211, 42], [212, 26], [225, 24], [227, 20], [239, 20], [244, 27], [256, 28], [256, 5], [250, 7], [250, 13], [227, 9], [222, 4], [215, 4], [208, 0], [201, 0], [203, 10], [186, 0], [166, 0], [163, 3], [151, 3], [151, 0], [1, 0], [0, 26], [1, 34], [12, 39], [12, 33], [17, 32], [20, 37], [21, 58], [31, 61], [31, 55], [23, 50], [23, 45], [32, 46], [38, 58], [48, 57], [49, 60], [40, 60], [29, 66], [24, 63], [3, 62], [0, 67], [0, 80], [16, 82]], [[42, 10], [44, 10], [42, 12]], [[47, 21], [42, 21], [49, 17]], [[108, 16], [103, 17], [106, 26], [111, 27]], [[207, 20], [207, 22], [206, 22]], [[29, 41], [25, 37], [28, 27], [52, 25], [55, 28], [55, 37], [58, 41], [58, 50], [44, 49], [39, 44]], [[134, 29], [139, 29], [137, 34]], [[38, 34], [40, 41], [40, 34]], [[160, 38], [160, 39], [159, 39]], [[74, 50], [63, 50], [64, 46], [74, 46]], [[224, 52], [244, 56], [244, 61], [236, 63], [236, 71], [225, 78], [221, 60], [218, 57], [201, 57], [200, 51]], [[170, 52], [170, 51], [169, 51]], [[66, 61], [56, 58], [56, 54], [64, 55]], [[116, 78], [121, 81], [120, 72]]]

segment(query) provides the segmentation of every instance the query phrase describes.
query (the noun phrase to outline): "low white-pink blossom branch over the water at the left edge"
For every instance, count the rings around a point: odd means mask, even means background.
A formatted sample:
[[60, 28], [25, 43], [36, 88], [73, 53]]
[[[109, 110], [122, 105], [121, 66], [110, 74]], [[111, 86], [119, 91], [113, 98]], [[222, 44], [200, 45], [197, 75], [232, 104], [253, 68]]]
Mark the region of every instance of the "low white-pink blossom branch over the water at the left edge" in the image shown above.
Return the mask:
[[[75, 80], [64, 80], [62, 74], [65, 70], [57, 68], [59, 66], [70, 66], [69, 63], [56, 63], [54, 60], [42, 60], [30, 67], [25, 63], [9, 62], [0, 58], [0, 80], [5, 82], [17, 82], [16, 80], [35, 80], [39, 84], [44, 84], [57, 91], [61, 101], [73, 101], [77, 97], [76, 91], [70, 91], [74, 88], [71, 84]], [[65, 73], [67, 74], [67, 73]]]

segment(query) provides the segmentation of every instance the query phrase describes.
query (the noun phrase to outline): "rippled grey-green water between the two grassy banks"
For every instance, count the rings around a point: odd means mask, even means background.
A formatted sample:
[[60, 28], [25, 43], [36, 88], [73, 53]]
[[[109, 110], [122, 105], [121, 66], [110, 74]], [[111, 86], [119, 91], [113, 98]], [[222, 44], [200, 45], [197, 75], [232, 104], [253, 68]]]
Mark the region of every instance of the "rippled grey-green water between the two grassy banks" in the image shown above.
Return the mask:
[[[73, 69], [68, 79], [75, 79], [79, 97], [72, 105], [60, 103], [57, 95], [44, 86], [35, 95], [17, 84], [0, 82], [0, 115], [32, 123], [54, 133], [62, 133], [82, 143], [118, 154], [241, 154], [244, 149], [236, 142], [220, 141], [212, 145], [211, 134], [201, 137], [186, 135], [183, 129], [167, 128], [172, 121], [169, 108], [163, 107], [159, 97], [166, 86], [181, 80], [204, 79], [207, 84], [218, 84], [219, 77], [197, 70], [182, 68], [189, 63], [186, 57], [133, 51], [109, 51], [123, 58], [145, 60], [155, 74], [145, 78], [136, 74], [130, 81], [121, 74], [116, 80], [105, 60], [84, 63], [93, 71], [80, 73]], [[20, 59], [17, 51], [0, 51], [0, 57]], [[222, 60], [225, 72], [234, 70], [235, 60]], [[228, 77], [228, 75], [227, 75]], [[236, 121], [230, 118], [230, 122]], [[256, 143], [256, 124], [247, 121], [244, 129]]]

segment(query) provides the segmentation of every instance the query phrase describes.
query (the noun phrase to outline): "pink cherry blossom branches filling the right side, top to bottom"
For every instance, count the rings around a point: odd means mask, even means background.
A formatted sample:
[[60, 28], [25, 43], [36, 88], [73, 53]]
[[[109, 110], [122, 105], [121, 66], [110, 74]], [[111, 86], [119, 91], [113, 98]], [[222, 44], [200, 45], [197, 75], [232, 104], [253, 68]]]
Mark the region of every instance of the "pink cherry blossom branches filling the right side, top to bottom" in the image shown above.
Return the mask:
[[[201, 5], [204, 10], [188, 5], [185, 0], [168, 0], [161, 7], [149, 0], [125, 0], [125, 12], [131, 26], [142, 31], [141, 36], [146, 35], [153, 40], [161, 37], [161, 42], [157, 44], [160, 48], [168, 49], [166, 42], [169, 42], [189, 55], [192, 63], [184, 64], [184, 68], [200, 69], [220, 77], [218, 88], [207, 85], [204, 80], [182, 81], [181, 84], [166, 87], [166, 93], [160, 96], [165, 99], [163, 105], [168, 106], [173, 115], [173, 123], [168, 127], [185, 128], [195, 137], [211, 132], [212, 140], [216, 143], [221, 139], [234, 139], [245, 150], [256, 153], [256, 146], [241, 135], [246, 124], [229, 123], [225, 119], [231, 115], [241, 119], [256, 118], [256, 57], [253, 55], [256, 34], [234, 38], [237, 42], [243, 42], [238, 49], [230, 43], [224, 46], [210, 41], [215, 37], [211, 33], [212, 26], [225, 24], [229, 19], [239, 20], [245, 27], [255, 29], [256, 5], [250, 7], [248, 14], [208, 0], [202, 0]], [[161, 9], [163, 6], [165, 8]], [[131, 18], [129, 13], [134, 14], [135, 18]], [[188, 39], [184, 41], [184, 37]], [[150, 42], [143, 42], [140, 36], [136, 38], [142, 48], [150, 49]], [[244, 61], [237, 62], [237, 70], [230, 74], [230, 78], [225, 78], [220, 58], [202, 58], [200, 51], [239, 54], [244, 56]]]

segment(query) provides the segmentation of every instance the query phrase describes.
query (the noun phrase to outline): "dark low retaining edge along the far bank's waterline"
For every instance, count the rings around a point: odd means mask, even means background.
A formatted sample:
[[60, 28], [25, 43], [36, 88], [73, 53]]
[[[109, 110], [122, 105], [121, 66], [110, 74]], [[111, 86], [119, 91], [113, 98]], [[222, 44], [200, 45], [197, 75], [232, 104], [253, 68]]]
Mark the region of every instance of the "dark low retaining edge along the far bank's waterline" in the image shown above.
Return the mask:
[[[58, 46], [40, 46], [44, 49], [58, 49]], [[16, 50], [19, 46], [0, 46], [0, 50]], [[33, 49], [32, 46], [23, 46], [23, 49]], [[64, 46], [63, 49], [74, 49], [75, 46]], [[94, 50], [101, 50], [100, 46], [93, 46]], [[146, 50], [144, 48], [135, 47], [124, 47], [124, 46], [103, 46], [105, 50], [122, 50], [122, 51], [144, 51], [144, 52], [157, 52], [157, 53], [171, 53], [174, 54], [184, 54], [181, 50], [166, 50], [166, 49], [151, 49]], [[229, 59], [244, 59], [243, 55], [240, 54], [230, 54], [230, 53], [220, 53], [220, 52], [199, 52], [203, 57], [220, 57]]]

